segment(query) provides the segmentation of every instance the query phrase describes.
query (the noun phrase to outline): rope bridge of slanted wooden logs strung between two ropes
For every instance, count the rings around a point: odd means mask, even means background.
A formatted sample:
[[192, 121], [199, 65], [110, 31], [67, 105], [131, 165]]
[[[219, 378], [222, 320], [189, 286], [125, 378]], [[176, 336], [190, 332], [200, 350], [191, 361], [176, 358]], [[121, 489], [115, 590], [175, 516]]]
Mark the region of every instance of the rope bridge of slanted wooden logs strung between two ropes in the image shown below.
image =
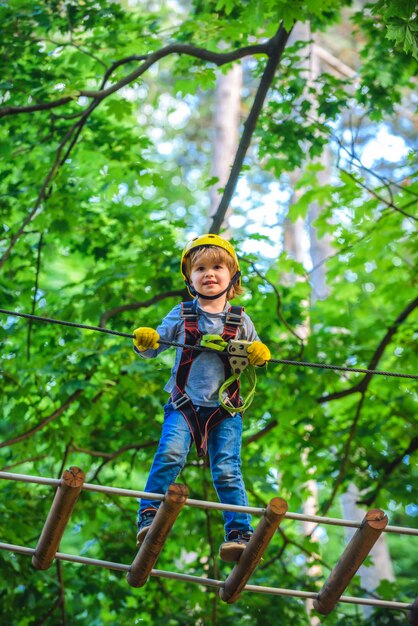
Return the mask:
[[[368, 511], [362, 522], [355, 522], [317, 515], [291, 513], [287, 510], [287, 502], [283, 498], [278, 497], [270, 500], [266, 508], [228, 505], [205, 500], [193, 500], [188, 497], [185, 485], [177, 483], [171, 485], [164, 495], [85, 483], [85, 474], [77, 467], [70, 467], [64, 472], [61, 479], [9, 472], [0, 472], [0, 479], [50, 485], [57, 488], [36, 548], [0, 543], [1, 550], [32, 556], [32, 564], [35, 569], [45, 570], [50, 567], [54, 559], [58, 559], [125, 572], [127, 581], [132, 587], [142, 587], [150, 576], [159, 576], [216, 588], [219, 590], [221, 599], [228, 604], [238, 600], [241, 593], [247, 591], [313, 599], [314, 608], [324, 615], [330, 613], [337, 602], [407, 611], [409, 623], [413, 626], [418, 625], [418, 598], [413, 602], [405, 603], [342, 595], [382, 532], [418, 536], [418, 529], [389, 526], [387, 516], [380, 509]], [[74, 506], [83, 490], [132, 498], [148, 497], [161, 502], [153, 524], [131, 565], [91, 559], [57, 551]], [[180, 572], [154, 569], [155, 562], [184, 505], [203, 509], [245, 511], [261, 516], [261, 520], [250, 542], [226, 580], [214, 580]], [[279, 524], [285, 518], [357, 529], [319, 593], [247, 584]]]

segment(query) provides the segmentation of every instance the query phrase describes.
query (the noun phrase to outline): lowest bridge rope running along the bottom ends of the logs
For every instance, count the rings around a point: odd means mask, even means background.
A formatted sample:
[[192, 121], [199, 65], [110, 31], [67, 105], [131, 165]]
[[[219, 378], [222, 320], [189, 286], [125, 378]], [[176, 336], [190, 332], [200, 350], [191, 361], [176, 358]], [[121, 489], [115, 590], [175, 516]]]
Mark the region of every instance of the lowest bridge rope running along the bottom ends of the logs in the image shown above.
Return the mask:
[[[27, 548], [26, 546], [17, 546], [11, 543], [0, 543], [0, 550], [8, 550], [9, 552], [17, 552], [18, 554], [24, 554], [26, 556], [33, 556], [35, 550], [33, 548]], [[131, 566], [124, 563], [115, 563], [112, 561], [101, 561], [100, 559], [91, 559], [88, 557], [77, 556], [73, 554], [65, 554], [63, 552], [57, 552], [55, 558], [59, 561], [70, 561], [72, 563], [81, 563], [83, 565], [94, 565], [96, 567], [104, 567], [106, 569], [116, 570], [119, 572], [128, 573]], [[161, 578], [170, 578], [173, 580], [179, 580], [182, 582], [195, 583], [204, 587], [215, 587], [221, 589], [225, 586], [224, 581], [215, 580], [213, 578], [203, 578], [201, 576], [191, 576], [190, 574], [181, 574], [178, 572], [169, 572], [166, 570], [151, 570], [151, 576], [159, 576]], [[293, 598], [312, 598], [315, 600], [318, 598], [318, 593], [314, 591], [299, 591], [293, 589], [281, 589], [279, 587], [264, 587], [260, 585], [245, 585], [243, 591], [251, 591], [253, 593], [264, 593], [275, 596], [290, 596]], [[406, 602], [395, 602], [389, 600], [377, 600], [374, 598], [357, 598], [353, 596], [341, 596], [338, 602], [345, 602], [348, 604], [364, 604], [366, 606], [386, 607], [388, 609], [397, 609], [399, 611], [408, 611], [413, 608], [413, 604]]]

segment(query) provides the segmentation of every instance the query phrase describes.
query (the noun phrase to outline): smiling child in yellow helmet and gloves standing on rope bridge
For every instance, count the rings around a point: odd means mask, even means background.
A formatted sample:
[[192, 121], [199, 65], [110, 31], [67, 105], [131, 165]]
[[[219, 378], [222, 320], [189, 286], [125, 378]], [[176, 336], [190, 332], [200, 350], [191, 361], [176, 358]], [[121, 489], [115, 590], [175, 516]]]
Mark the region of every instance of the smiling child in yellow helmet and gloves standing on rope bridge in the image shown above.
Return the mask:
[[[193, 302], [183, 302], [164, 318], [157, 330], [134, 331], [135, 351], [144, 358], [167, 349], [158, 341], [198, 345], [203, 335], [221, 335], [226, 341], [251, 341], [248, 358], [254, 365], [270, 359], [254, 325], [242, 307], [229, 300], [242, 293], [241, 272], [232, 245], [218, 235], [202, 235], [183, 250], [181, 272]], [[164, 407], [164, 423], [145, 491], [165, 493], [183, 469], [193, 442], [198, 455], [209, 454], [213, 483], [222, 503], [248, 506], [241, 474], [242, 416], [219, 404], [219, 389], [230, 376], [229, 362], [217, 352], [177, 348], [171, 378], [165, 386], [170, 399]], [[239, 383], [225, 392], [224, 403], [240, 406]], [[140, 545], [157, 512], [159, 501], [142, 499], [138, 512]], [[253, 528], [246, 513], [224, 512], [225, 541], [220, 557], [238, 561]]]

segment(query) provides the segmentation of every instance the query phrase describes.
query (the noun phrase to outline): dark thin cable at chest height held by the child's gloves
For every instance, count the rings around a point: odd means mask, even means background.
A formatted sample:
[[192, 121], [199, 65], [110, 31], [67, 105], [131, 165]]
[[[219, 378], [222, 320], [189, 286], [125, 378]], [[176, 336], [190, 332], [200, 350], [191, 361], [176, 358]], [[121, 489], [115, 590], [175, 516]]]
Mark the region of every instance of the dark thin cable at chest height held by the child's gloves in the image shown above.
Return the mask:
[[[134, 335], [131, 333], [121, 333], [117, 330], [109, 330], [107, 328], [101, 328], [100, 326], [88, 326], [86, 324], [78, 324], [76, 322], [65, 322], [63, 320], [56, 320], [51, 317], [40, 317], [39, 315], [30, 315], [29, 313], [17, 313], [16, 311], [8, 311], [7, 309], [0, 309], [0, 313], [5, 315], [12, 315], [15, 317], [23, 317], [37, 322], [48, 322], [49, 324], [59, 324], [61, 326], [71, 326], [72, 328], [82, 328], [84, 330], [94, 330], [100, 333], [106, 333], [108, 335], [116, 335], [117, 337], [127, 337], [128, 339], [134, 339]], [[177, 341], [165, 341], [160, 339], [160, 344], [167, 346], [174, 346], [175, 348], [189, 348], [191, 350], [197, 350], [198, 352], [214, 352], [211, 348], [205, 348], [201, 346], [191, 346], [186, 343], [178, 343]], [[216, 351], [218, 355], [227, 357], [226, 353]], [[360, 367], [345, 367], [343, 365], [328, 365], [326, 363], [311, 363], [309, 361], [290, 361], [288, 359], [270, 359], [269, 363], [279, 363], [280, 365], [294, 365], [296, 367], [316, 367], [320, 369], [336, 370], [339, 372], [356, 372], [358, 374], [372, 374], [375, 376], [392, 376], [394, 378], [409, 378], [412, 380], [418, 380], [418, 374], [404, 374], [400, 372], [387, 372], [385, 370], [371, 370]]]

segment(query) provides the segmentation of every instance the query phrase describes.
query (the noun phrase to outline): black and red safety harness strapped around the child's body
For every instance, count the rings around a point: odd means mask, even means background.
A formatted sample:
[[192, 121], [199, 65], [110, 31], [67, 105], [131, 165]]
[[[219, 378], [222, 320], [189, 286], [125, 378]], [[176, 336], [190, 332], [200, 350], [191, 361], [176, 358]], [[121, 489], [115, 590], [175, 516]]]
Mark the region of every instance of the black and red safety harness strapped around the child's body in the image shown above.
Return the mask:
[[[202, 333], [198, 328], [199, 314], [196, 310], [194, 302], [182, 302], [181, 318], [184, 320], [184, 344], [189, 346], [197, 346], [202, 339]], [[226, 320], [222, 332], [222, 339], [230, 341], [235, 339], [238, 328], [242, 325], [242, 312], [244, 308], [240, 306], [231, 306], [226, 313]], [[185, 389], [192, 367], [193, 359], [197, 356], [196, 350], [184, 347], [181, 354], [180, 363], [177, 368], [176, 386], [171, 394], [171, 403], [173, 408], [180, 411], [190, 429], [193, 440], [196, 444], [198, 456], [205, 456], [208, 447], [209, 432], [222, 420], [231, 416], [231, 412], [226, 406], [230, 405], [231, 409], [241, 406], [240, 384], [238, 377], [232, 376], [230, 361], [223, 358], [222, 362], [225, 368], [225, 379], [231, 378], [231, 383], [224, 389], [223, 406], [214, 409], [213, 413], [202, 423], [199, 412], [193, 405]]]

